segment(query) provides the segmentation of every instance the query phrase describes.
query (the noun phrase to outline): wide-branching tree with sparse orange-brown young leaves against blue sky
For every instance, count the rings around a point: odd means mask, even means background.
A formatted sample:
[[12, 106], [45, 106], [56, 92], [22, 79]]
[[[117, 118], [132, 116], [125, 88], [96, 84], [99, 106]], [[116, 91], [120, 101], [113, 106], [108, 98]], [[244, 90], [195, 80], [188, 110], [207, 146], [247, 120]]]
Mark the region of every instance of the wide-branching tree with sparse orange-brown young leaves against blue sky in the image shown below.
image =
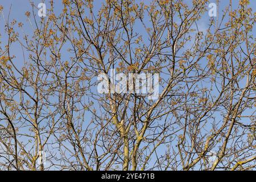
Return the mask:
[[[205, 0], [63, 0], [59, 14], [55, 3], [43, 18], [32, 4], [20, 23], [0, 9], [1, 169], [255, 169], [249, 1], [230, 2], [205, 31]], [[159, 97], [98, 93], [113, 68], [159, 73]]]

